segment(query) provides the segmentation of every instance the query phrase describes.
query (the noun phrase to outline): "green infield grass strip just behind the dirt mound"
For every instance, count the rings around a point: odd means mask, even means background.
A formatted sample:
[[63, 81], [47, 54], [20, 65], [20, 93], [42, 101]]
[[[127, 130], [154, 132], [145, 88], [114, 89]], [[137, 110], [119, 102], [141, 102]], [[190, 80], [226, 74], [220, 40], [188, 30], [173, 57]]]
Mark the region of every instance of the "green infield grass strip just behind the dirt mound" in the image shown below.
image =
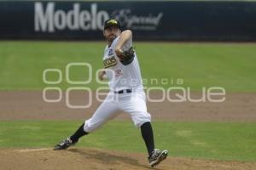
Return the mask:
[[[0, 122], [0, 147], [53, 147], [80, 122]], [[255, 161], [256, 125], [238, 122], [154, 122], [157, 147], [171, 156]], [[146, 152], [131, 122], [109, 122], [82, 138], [77, 147]]]

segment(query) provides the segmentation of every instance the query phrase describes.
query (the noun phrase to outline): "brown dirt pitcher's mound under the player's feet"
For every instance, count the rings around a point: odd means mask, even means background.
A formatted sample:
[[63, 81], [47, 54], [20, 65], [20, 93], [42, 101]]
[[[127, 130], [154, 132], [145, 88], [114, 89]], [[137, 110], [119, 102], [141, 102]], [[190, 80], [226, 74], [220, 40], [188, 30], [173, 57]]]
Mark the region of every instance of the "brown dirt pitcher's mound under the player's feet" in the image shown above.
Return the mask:
[[[76, 170], [146, 170], [145, 154], [98, 149], [26, 149], [0, 150], [0, 169], [76, 169]], [[210, 161], [169, 156], [159, 170], [253, 170], [256, 163], [240, 161]]]

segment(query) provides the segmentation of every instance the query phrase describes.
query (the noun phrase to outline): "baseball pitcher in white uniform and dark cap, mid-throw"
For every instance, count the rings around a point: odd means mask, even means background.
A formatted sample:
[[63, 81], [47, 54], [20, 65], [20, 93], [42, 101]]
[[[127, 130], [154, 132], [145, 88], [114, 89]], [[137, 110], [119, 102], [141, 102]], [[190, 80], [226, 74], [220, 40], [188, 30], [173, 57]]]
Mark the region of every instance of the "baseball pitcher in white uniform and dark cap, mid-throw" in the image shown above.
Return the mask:
[[141, 129], [148, 149], [148, 161], [151, 167], [166, 159], [168, 150], [154, 148], [154, 135], [151, 127], [151, 116], [147, 111], [146, 98], [137, 54], [132, 48], [131, 30], [120, 30], [118, 20], [106, 20], [103, 36], [107, 40], [104, 50], [104, 70], [99, 73], [101, 80], [108, 78], [109, 93], [102, 105], [90, 119], [67, 139], [56, 144], [54, 150], [65, 150], [76, 144], [82, 136], [94, 132], [105, 122], [125, 111], [132, 122]]

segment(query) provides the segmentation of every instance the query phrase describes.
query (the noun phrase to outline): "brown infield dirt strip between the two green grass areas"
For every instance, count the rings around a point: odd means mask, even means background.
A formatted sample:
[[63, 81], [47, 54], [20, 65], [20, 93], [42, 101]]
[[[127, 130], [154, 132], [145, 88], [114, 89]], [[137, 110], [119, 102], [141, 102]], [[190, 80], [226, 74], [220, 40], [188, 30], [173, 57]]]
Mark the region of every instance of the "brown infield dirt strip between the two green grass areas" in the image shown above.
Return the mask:
[[[65, 95], [64, 95], [65, 96]], [[150, 94], [160, 99], [160, 94]], [[194, 99], [201, 94], [191, 94]], [[56, 94], [48, 96], [56, 99]], [[83, 93], [73, 93], [72, 105], [88, 104]], [[92, 94], [92, 105], [88, 109], [69, 109], [65, 98], [58, 103], [47, 103], [41, 91], [0, 91], [0, 120], [81, 120], [89, 118], [101, 103]], [[256, 122], [256, 93], [226, 94], [221, 103], [148, 102], [148, 112], [154, 120], [173, 122]], [[130, 120], [128, 114], [120, 114], [117, 120]]]

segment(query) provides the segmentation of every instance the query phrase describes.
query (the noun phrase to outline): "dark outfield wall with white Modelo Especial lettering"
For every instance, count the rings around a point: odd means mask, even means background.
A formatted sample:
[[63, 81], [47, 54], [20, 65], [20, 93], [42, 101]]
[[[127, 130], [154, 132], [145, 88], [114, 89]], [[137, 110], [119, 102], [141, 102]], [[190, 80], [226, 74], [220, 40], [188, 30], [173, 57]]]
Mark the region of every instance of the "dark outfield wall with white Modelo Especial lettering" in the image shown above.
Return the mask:
[[256, 2], [0, 2], [0, 39], [102, 40], [114, 17], [137, 40], [256, 41]]

